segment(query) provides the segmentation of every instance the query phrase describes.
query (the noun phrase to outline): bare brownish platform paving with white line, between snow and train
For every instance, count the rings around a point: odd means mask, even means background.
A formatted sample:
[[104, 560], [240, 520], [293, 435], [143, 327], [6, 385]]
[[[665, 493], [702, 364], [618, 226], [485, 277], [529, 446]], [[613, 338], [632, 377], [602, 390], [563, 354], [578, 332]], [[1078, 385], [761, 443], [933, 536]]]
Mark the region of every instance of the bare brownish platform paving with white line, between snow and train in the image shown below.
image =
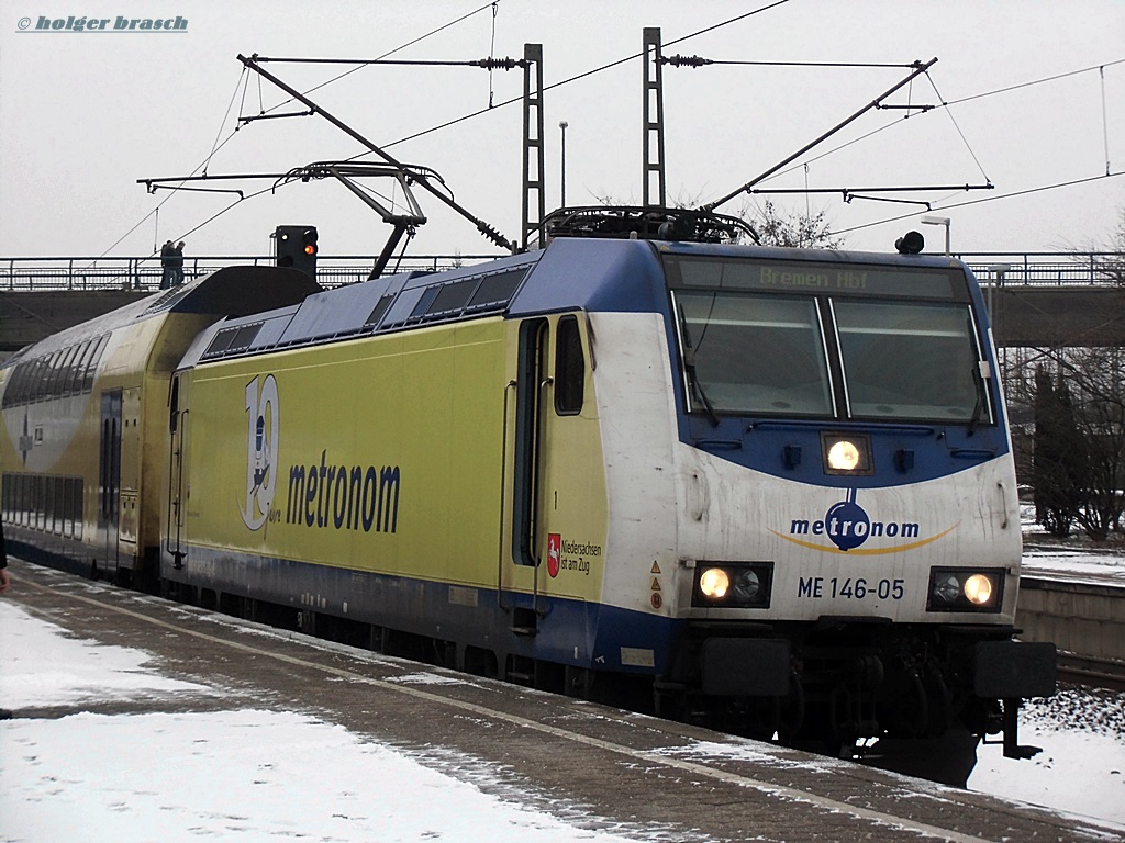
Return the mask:
[[1110, 841], [1120, 830], [270, 629], [19, 560], [11, 599], [75, 636], [151, 653], [222, 694], [17, 709], [20, 717], [303, 711], [402, 752], [448, 749], [502, 771], [537, 807], [663, 828], [665, 840]]

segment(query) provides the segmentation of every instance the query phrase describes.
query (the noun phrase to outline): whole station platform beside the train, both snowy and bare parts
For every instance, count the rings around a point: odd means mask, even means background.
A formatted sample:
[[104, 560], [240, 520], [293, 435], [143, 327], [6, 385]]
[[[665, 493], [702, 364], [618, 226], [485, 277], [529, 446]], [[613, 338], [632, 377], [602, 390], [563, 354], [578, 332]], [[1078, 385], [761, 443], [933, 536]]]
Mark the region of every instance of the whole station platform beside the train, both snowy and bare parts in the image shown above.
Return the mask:
[[11, 568], [3, 840], [68, 828], [87, 841], [1125, 837], [1125, 826]]

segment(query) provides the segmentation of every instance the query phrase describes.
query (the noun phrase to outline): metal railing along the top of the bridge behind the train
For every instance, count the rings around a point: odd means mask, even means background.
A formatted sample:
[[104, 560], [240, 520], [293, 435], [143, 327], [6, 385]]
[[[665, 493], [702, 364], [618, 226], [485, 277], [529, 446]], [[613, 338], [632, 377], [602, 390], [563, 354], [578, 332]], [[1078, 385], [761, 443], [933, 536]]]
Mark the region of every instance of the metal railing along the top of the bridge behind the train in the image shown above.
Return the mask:
[[[501, 257], [501, 254], [416, 255], [393, 264], [395, 272], [434, 272]], [[984, 285], [1122, 287], [1125, 254], [1120, 252], [978, 252], [956, 255]], [[366, 281], [374, 255], [322, 255], [317, 280], [325, 287]], [[188, 279], [235, 264], [271, 265], [269, 255], [186, 257]], [[159, 256], [0, 257], [0, 291], [155, 290], [163, 274]]]

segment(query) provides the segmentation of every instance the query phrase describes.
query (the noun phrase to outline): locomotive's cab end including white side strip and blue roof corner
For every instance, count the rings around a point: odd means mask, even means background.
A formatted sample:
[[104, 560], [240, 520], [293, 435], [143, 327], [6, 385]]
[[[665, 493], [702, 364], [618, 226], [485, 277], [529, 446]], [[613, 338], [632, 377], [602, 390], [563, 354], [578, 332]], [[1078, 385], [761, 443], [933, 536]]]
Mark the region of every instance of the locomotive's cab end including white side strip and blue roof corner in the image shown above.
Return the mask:
[[1052, 691], [1050, 645], [1012, 641], [1015, 469], [962, 263], [572, 241], [534, 275], [524, 307], [584, 309], [596, 359], [597, 663], [652, 673], [663, 713], [829, 743], [980, 735]]

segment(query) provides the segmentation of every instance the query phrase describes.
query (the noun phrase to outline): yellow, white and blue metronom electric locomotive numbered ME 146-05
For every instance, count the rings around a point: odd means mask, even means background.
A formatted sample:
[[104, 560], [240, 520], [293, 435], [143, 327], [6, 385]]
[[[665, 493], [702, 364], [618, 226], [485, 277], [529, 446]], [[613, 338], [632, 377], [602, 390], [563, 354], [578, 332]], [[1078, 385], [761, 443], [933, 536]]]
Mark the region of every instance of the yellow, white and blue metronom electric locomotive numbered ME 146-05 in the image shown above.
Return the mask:
[[152, 553], [186, 599], [924, 764], [1019, 754], [1053, 692], [958, 261], [557, 236], [224, 319], [168, 384]]

